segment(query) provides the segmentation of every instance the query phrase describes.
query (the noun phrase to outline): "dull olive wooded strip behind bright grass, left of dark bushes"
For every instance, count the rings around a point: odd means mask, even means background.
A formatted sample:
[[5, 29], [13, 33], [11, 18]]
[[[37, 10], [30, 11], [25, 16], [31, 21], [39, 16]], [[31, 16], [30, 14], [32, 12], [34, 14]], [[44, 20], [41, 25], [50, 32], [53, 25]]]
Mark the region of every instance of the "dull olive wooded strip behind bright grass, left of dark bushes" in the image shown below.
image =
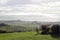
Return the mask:
[[36, 31], [35, 29], [36, 29], [35, 27], [12, 26], [4, 23], [0, 24], [0, 33], [30, 32], [30, 31]]

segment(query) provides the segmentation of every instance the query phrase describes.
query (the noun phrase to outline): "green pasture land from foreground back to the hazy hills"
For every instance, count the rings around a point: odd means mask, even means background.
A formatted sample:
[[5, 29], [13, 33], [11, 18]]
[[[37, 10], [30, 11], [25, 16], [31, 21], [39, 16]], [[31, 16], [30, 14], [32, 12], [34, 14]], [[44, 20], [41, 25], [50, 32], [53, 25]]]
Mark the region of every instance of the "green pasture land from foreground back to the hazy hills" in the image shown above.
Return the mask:
[[[42, 30], [39, 28], [41, 27], [37, 25], [0, 26], [0, 40], [60, 40], [60, 35], [58, 35], [58, 38], [54, 38], [51, 34], [49, 34], [51, 30], [48, 34], [42, 35], [40, 33]], [[55, 30], [54, 27], [53, 29]], [[55, 31], [52, 31], [52, 33], [54, 32]]]

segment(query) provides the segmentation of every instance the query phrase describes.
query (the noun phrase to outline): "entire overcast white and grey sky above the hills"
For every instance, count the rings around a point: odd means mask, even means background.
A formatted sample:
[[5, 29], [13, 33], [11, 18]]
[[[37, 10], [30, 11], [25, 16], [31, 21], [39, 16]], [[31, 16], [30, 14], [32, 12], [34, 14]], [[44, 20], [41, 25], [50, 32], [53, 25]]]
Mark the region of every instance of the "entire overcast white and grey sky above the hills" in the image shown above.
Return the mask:
[[60, 0], [0, 0], [0, 20], [60, 21]]

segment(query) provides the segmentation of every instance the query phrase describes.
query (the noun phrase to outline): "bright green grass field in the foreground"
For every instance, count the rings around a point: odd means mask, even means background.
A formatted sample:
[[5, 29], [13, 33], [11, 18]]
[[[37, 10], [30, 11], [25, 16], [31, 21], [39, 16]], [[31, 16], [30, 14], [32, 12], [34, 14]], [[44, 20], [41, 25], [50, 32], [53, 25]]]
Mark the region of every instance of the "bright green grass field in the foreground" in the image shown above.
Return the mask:
[[0, 34], [0, 40], [60, 40], [50, 35], [36, 35], [36, 32], [19, 32]]

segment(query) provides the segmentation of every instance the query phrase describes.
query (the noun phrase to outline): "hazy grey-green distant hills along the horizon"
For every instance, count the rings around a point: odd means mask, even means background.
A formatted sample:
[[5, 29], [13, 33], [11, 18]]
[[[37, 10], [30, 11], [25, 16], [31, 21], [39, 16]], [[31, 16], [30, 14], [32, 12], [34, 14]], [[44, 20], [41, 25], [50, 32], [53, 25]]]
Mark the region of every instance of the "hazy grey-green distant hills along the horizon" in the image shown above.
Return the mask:
[[8, 25], [15, 25], [15, 26], [30, 26], [30, 27], [32, 25], [38, 27], [41, 24], [60, 24], [60, 22], [40, 22], [40, 21], [21, 21], [21, 20], [0, 21], [0, 23], [5, 23]]

